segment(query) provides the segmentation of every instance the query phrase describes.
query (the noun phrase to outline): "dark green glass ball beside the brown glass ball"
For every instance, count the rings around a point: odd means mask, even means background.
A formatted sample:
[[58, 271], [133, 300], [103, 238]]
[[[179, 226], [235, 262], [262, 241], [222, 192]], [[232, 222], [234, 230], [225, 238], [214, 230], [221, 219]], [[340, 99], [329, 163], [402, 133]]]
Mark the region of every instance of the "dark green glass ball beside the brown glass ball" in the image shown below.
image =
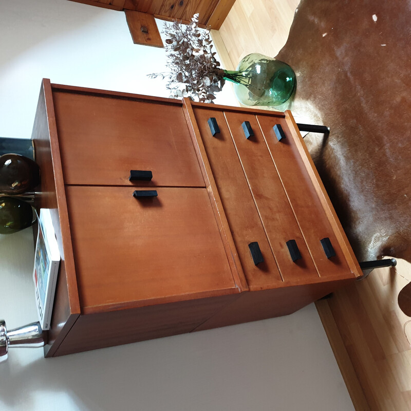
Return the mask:
[[36, 221], [29, 203], [16, 197], [0, 197], [0, 234], [13, 234]]

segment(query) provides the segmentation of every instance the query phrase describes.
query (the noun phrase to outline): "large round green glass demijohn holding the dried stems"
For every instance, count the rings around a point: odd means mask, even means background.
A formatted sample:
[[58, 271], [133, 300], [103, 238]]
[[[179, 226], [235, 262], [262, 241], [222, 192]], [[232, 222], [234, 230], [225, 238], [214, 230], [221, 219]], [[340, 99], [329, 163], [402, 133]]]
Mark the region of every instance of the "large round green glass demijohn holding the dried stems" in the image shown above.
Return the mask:
[[223, 77], [234, 83], [238, 101], [247, 106], [277, 106], [292, 95], [296, 80], [286, 63], [264, 54], [246, 55], [237, 70], [224, 70]]

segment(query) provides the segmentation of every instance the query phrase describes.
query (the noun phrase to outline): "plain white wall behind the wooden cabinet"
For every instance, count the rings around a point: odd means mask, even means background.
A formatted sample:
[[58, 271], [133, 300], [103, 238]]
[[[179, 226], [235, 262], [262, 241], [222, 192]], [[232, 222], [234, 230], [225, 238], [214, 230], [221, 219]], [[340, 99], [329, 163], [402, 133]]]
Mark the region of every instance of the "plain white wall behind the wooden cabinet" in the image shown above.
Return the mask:
[[[0, 0], [0, 136], [29, 137], [43, 77], [167, 97], [123, 13], [66, 0]], [[224, 104], [230, 97], [219, 99]], [[0, 236], [0, 316], [36, 321], [32, 232]], [[313, 305], [286, 317], [44, 360], [12, 349], [0, 409], [352, 410]]]

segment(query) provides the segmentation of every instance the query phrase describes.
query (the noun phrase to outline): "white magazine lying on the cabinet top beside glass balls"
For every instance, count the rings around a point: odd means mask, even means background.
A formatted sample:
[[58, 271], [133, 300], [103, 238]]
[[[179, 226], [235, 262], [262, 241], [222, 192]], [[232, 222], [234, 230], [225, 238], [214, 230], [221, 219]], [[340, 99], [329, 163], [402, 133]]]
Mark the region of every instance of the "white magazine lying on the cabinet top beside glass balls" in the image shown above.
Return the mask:
[[43, 330], [50, 328], [60, 251], [49, 209], [41, 209], [34, 257], [35, 303]]

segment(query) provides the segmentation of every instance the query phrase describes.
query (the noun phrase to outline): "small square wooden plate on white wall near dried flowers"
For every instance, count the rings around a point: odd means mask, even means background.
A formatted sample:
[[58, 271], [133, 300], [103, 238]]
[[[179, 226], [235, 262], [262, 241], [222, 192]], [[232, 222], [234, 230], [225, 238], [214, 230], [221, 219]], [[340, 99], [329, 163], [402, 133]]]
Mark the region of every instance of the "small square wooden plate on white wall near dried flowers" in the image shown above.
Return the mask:
[[157, 23], [152, 14], [125, 10], [125, 16], [134, 44], [164, 47]]

